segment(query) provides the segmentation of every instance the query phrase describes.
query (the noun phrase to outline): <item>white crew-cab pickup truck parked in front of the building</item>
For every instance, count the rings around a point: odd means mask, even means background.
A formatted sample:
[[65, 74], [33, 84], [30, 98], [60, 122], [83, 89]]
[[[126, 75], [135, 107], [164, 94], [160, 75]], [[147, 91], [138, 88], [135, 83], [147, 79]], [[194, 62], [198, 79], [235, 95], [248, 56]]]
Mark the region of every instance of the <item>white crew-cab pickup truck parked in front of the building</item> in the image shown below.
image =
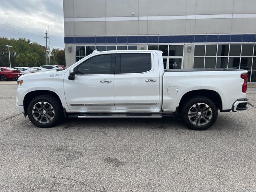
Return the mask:
[[18, 78], [16, 105], [38, 127], [70, 118], [175, 116], [194, 130], [246, 110], [246, 70], [164, 70], [162, 52], [94, 51], [66, 70]]

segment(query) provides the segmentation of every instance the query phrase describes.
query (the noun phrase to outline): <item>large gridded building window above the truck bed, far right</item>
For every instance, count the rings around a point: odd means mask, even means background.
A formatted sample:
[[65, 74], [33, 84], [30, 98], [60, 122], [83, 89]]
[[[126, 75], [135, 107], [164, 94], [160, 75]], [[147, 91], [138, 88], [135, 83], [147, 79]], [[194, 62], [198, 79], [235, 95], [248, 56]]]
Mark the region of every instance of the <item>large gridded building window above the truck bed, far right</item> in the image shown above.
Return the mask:
[[256, 82], [256, 45], [196, 44], [194, 68], [244, 69], [248, 70], [248, 82]]

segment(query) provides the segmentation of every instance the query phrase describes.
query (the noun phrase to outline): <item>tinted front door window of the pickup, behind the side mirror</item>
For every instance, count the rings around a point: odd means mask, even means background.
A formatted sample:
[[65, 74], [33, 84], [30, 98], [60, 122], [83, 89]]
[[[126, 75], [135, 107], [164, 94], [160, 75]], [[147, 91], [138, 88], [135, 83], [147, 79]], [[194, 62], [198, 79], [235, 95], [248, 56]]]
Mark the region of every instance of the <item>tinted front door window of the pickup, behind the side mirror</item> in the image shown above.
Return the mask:
[[78, 75], [110, 74], [111, 54], [89, 58], [75, 68]]

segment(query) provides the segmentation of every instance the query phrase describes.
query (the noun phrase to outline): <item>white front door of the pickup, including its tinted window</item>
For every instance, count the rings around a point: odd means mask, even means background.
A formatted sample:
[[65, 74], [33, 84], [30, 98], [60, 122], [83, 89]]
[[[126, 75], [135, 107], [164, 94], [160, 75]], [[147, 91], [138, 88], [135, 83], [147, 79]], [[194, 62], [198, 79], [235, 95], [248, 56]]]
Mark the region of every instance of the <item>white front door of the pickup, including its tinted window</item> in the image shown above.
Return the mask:
[[74, 68], [75, 79], [64, 77], [64, 91], [71, 112], [111, 112], [114, 106], [116, 54], [88, 58]]

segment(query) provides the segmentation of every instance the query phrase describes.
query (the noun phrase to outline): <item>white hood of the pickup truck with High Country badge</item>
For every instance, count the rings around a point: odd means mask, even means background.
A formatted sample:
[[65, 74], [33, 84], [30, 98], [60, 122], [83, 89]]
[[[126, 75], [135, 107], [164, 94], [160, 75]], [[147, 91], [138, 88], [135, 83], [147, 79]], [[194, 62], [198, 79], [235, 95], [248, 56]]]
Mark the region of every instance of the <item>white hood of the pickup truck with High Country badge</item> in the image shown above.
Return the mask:
[[45, 78], [64, 78], [64, 74], [67, 70], [60, 70], [60, 71], [44, 71], [44, 72], [36, 72], [22, 75], [18, 78], [18, 80], [38, 80], [38, 79], [45, 79]]

